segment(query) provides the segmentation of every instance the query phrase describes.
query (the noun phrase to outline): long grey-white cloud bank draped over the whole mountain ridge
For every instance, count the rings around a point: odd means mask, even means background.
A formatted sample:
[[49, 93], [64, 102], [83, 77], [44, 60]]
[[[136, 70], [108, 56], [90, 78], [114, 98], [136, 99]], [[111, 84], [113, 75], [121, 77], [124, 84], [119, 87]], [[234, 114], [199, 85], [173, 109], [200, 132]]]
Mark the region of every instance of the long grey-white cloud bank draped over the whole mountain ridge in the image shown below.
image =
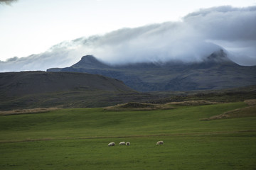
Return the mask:
[[228, 50], [238, 64], [256, 64], [256, 6], [219, 6], [189, 13], [181, 22], [122, 28], [54, 45], [47, 52], [0, 62], [0, 71], [68, 67], [82, 55], [110, 64], [201, 62], [212, 52]]

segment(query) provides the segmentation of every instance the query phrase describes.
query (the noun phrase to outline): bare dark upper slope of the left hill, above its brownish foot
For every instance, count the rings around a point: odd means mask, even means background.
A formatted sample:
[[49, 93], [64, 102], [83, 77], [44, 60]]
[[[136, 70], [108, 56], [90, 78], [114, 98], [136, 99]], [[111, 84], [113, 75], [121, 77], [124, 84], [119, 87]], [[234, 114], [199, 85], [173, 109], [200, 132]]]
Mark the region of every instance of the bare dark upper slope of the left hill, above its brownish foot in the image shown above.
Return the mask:
[[75, 72], [0, 73], [0, 92], [6, 96], [44, 94], [75, 89], [132, 91], [122, 81], [95, 74]]

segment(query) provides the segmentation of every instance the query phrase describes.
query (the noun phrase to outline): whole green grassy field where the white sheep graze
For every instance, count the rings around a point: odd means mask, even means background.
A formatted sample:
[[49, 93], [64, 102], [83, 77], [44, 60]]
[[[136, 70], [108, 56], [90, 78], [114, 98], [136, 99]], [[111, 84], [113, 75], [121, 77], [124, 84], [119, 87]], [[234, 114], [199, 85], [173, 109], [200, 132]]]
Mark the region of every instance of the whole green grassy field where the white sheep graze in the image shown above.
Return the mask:
[[245, 106], [0, 116], [0, 169], [256, 169], [255, 116], [201, 120]]

